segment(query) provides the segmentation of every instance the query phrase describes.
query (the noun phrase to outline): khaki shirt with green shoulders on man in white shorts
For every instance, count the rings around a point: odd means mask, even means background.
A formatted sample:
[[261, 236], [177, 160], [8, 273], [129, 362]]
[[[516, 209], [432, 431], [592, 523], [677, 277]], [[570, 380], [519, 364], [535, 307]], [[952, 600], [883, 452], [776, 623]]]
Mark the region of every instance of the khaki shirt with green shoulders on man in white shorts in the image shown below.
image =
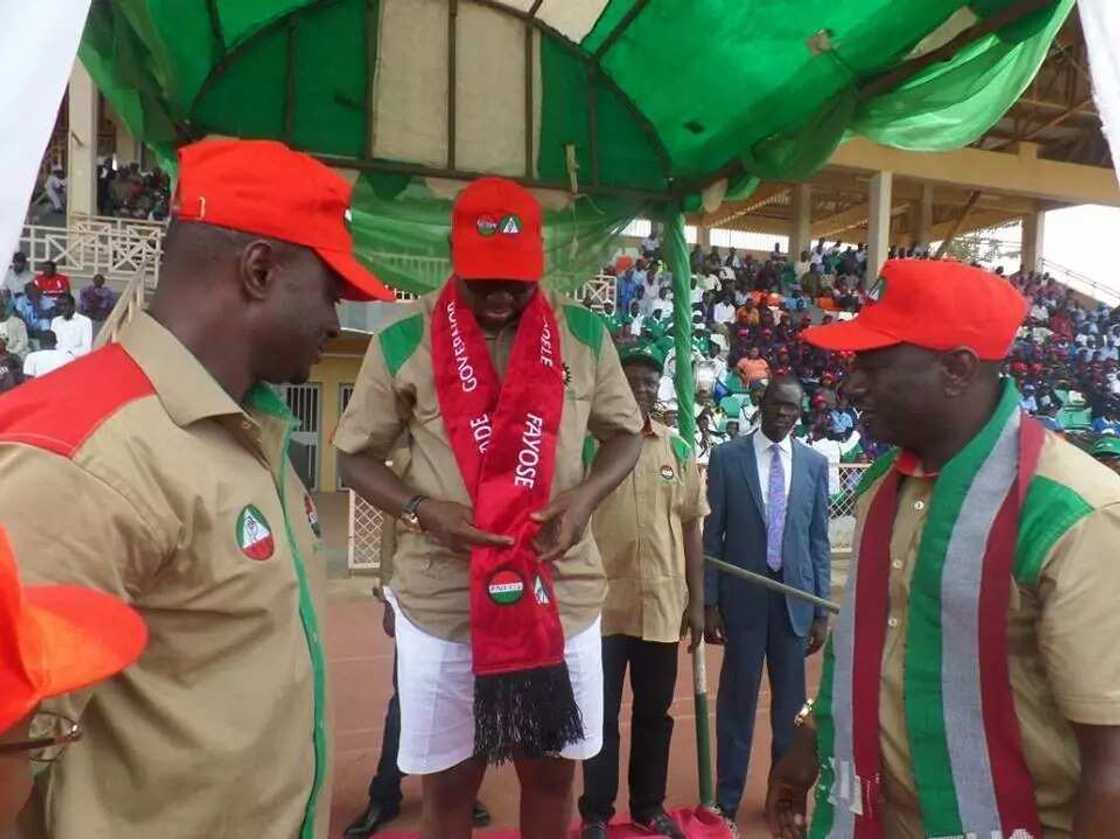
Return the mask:
[[[418, 494], [470, 505], [455, 454], [447, 441], [431, 374], [431, 311], [438, 293], [400, 304], [393, 320], [370, 342], [335, 446], [349, 454], [390, 458], [404, 431], [410, 462], [401, 476]], [[607, 439], [637, 434], [642, 416], [618, 363], [603, 320], [589, 309], [550, 295], [560, 330], [560, 356], [567, 366], [563, 411], [557, 441], [552, 496], [579, 485], [581, 451], [588, 432]], [[494, 366], [504, 375], [515, 325], [487, 336]], [[393, 578], [398, 604], [417, 626], [436, 637], [470, 637], [466, 556], [454, 553], [423, 533], [396, 531]], [[584, 533], [556, 562], [556, 595], [564, 633], [587, 628], [598, 616], [606, 588], [603, 562]]]

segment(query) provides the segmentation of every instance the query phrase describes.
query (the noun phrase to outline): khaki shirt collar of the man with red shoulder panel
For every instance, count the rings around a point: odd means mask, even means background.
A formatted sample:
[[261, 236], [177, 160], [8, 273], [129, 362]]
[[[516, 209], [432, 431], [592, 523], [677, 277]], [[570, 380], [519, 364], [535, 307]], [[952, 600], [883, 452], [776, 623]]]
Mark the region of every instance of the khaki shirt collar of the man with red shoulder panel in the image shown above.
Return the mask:
[[244, 413], [190, 351], [151, 315], [140, 313], [132, 318], [121, 330], [120, 342], [151, 381], [177, 426]]

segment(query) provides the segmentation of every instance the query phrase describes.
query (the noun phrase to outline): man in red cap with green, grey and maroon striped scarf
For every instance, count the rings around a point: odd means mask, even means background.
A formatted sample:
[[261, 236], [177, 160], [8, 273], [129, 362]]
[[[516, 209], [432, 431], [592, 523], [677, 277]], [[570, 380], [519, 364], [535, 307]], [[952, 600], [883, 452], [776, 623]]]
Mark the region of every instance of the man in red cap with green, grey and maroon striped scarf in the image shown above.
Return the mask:
[[815, 706], [771, 776], [775, 836], [1077, 837], [1120, 820], [1120, 479], [1019, 408], [1026, 302], [980, 269], [897, 260], [847, 393], [897, 448], [859, 490], [857, 556]]

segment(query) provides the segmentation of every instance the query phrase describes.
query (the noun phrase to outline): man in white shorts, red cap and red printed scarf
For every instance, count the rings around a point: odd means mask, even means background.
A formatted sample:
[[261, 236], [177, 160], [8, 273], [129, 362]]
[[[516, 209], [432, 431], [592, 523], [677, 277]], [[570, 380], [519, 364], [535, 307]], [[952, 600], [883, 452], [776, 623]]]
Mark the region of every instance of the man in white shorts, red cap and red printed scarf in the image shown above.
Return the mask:
[[[423, 776], [427, 839], [469, 837], [486, 765], [507, 759], [522, 836], [566, 836], [573, 762], [601, 745], [605, 577], [587, 523], [637, 460], [642, 416], [601, 319], [539, 288], [543, 261], [529, 192], [467, 186], [454, 276], [373, 337], [335, 434], [347, 485], [396, 520], [398, 759]], [[585, 476], [588, 434], [601, 445]]]

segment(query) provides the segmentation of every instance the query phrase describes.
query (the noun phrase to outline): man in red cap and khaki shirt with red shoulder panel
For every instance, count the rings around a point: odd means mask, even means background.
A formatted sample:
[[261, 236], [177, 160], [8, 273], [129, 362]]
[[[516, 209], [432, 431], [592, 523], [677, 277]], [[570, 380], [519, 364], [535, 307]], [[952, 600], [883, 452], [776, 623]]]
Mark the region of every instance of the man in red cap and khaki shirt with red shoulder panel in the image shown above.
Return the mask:
[[159, 287], [120, 343], [0, 402], [0, 509], [25, 576], [131, 604], [143, 660], [57, 706], [86, 731], [28, 837], [326, 837], [324, 577], [288, 462], [351, 252], [348, 184], [277, 142], [180, 151]]

